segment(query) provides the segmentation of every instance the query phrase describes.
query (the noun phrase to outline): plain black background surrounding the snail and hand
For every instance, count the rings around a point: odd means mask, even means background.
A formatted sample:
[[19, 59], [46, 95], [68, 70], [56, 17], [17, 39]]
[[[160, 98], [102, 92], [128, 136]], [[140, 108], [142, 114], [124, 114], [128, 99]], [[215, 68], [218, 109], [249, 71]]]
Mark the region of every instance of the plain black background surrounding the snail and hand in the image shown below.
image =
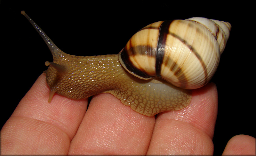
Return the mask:
[[219, 108], [213, 138], [220, 155], [238, 134], [255, 136], [255, 11], [252, 4], [171, 1], [0, 1], [1, 127], [52, 61], [51, 53], [24, 10], [63, 51], [73, 55], [117, 54], [140, 28], [160, 20], [205, 17], [232, 25], [212, 78]]

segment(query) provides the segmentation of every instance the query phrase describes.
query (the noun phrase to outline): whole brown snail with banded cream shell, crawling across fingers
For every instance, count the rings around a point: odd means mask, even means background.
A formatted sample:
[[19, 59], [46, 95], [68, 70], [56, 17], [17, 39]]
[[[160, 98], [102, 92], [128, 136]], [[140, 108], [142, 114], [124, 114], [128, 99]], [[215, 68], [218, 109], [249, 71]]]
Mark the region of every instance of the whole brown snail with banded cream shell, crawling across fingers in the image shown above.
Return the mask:
[[154, 116], [185, 108], [191, 89], [215, 73], [231, 25], [207, 18], [159, 21], [135, 33], [118, 54], [75, 56], [62, 52], [24, 12], [51, 50], [44, 72], [55, 93], [81, 100], [110, 93], [132, 110]]

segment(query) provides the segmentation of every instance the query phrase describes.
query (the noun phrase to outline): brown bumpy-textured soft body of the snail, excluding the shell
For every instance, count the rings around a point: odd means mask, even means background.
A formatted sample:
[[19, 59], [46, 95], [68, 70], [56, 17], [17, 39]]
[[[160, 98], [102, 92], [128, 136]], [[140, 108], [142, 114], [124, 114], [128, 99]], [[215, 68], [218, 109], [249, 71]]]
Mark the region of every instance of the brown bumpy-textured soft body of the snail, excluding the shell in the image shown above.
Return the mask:
[[[44, 72], [50, 88], [49, 102], [54, 93], [75, 100], [99, 93], [110, 93], [124, 105], [146, 116], [154, 116], [168, 110], [180, 110], [190, 103], [190, 90], [172, 85], [160, 78], [161, 75], [141, 79], [141, 76], [127, 70], [124, 62], [120, 60], [127, 47], [121, 53], [113, 55], [69, 55], [62, 52], [24, 11], [21, 13], [35, 27], [53, 55], [53, 62], [45, 62], [49, 68]], [[215, 37], [216, 40], [217, 38]], [[220, 51], [223, 50], [218, 52]], [[219, 58], [215, 66], [218, 66], [218, 63]], [[214, 70], [216, 68], [214, 67]]]

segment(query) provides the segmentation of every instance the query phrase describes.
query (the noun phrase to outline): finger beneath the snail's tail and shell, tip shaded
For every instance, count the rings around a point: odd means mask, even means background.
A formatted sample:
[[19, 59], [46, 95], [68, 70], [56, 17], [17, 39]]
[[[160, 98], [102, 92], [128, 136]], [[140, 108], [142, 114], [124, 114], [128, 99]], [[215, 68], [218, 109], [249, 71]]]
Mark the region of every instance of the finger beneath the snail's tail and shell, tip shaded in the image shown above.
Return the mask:
[[218, 94], [214, 84], [193, 90], [184, 109], [161, 113], [147, 154], [212, 154]]

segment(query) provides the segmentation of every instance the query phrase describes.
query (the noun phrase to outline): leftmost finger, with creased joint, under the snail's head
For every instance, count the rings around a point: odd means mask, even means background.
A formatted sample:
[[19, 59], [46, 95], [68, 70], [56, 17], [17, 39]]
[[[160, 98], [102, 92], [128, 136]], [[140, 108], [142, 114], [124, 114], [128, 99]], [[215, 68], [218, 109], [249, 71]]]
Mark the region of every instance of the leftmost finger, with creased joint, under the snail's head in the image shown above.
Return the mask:
[[1, 130], [5, 154], [67, 154], [86, 101], [55, 95], [48, 103], [45, 74], [39, 76]]

